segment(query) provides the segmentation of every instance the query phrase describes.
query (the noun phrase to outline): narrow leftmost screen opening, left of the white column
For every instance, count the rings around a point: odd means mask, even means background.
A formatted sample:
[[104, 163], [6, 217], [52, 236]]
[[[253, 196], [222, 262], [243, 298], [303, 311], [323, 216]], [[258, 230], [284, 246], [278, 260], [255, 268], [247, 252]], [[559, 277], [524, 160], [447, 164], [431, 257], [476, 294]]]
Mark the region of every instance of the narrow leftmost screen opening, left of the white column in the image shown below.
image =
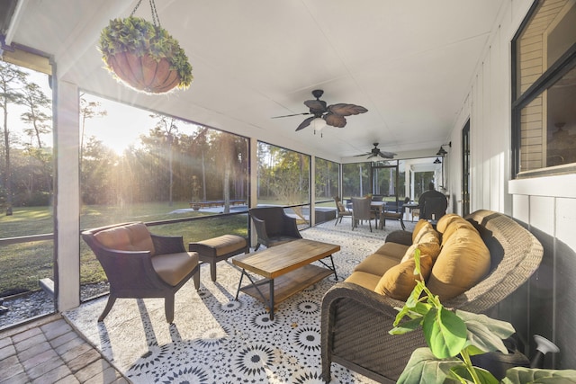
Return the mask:
[[[0, 298], [5, 298], [3, 306], [14, 317], [0, 317], [0, 328], [27, 320], [31, 313], [39, 316], [55, 310], [54, 300], [39, 291], [41, 280], [54, 278], [51, 68], [29, 69], [36, 67], [34, 62], [48, 60], [24, 51], [6, 51], [4, 59], [0, 60]], [[32, 300], [32, 311], [19, 310], [17, 300], [10, 298], [16, 294], [20, 299], [40, 297], [48, 305], [36, 306]]]

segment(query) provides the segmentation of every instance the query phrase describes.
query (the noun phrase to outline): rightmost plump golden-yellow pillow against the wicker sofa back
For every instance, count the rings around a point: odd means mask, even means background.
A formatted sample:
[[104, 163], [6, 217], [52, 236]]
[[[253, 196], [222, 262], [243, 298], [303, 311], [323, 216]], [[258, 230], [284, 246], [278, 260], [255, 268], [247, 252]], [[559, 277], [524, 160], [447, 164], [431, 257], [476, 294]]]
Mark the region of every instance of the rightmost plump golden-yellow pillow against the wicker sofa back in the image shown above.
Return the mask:
[[438, 255], [427, 286], [441, 300], [472, 288], [490, 271], [490, 251], [474, 229], [458, 228]]

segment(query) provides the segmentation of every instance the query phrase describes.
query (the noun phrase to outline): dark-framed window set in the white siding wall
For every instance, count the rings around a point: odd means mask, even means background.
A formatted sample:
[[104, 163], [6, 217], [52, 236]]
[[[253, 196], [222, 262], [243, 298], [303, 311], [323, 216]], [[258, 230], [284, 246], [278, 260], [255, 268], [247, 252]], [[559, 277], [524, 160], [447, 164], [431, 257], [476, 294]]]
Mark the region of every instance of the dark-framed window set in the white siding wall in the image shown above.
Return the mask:
[[536, 1], [512, 41], [513, 174], [576, 169], [576, 1]]

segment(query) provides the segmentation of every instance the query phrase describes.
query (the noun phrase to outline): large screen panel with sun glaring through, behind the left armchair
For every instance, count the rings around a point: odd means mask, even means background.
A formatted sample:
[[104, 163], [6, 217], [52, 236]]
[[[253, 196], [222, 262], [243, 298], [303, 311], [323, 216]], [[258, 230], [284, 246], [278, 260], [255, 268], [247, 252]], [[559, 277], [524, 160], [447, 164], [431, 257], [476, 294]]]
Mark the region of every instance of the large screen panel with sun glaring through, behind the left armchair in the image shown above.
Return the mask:
[[[92, 94], [80, 94], [79, 120], [80, 228], [156, 222], [153, 233], [184, 245], [247, 236], [247, 138]], [[81, 285], [100, 285], [94, 253], [80, 249]]]

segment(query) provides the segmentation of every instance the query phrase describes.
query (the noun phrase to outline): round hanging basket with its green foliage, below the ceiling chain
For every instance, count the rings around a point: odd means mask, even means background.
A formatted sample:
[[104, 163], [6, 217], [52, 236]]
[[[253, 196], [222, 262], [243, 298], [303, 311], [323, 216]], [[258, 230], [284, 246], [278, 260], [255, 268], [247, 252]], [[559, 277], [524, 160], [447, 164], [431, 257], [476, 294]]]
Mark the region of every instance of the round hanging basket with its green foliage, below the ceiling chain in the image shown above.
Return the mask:
[[161, 94], [192, 83], [192, 66], [178, 41], [142, 18], [111, 20], [98, 48], [112, 74], [136, 90]]

